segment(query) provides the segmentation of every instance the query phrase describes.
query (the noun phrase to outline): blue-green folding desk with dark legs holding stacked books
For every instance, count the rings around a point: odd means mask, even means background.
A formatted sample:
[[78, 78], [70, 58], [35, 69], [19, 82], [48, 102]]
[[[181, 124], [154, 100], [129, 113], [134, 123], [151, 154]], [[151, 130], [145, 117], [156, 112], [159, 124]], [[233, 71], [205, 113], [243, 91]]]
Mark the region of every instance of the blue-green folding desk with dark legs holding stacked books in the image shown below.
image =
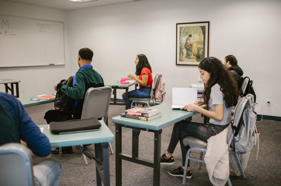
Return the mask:
[[[121, 116], [112, 118], [115, 123], [116, 136], [116, 185], [122, 185], [122, 160], [131, 161], [141, 165], [153, 168], [153, 185], [160, 185], [160, 150], [161, 150], [161, 133], [164, 127], [179, 122], [186, 118], [192, 117], [198, 112], [188, 112], [186, 110], [172, 109], [172, 102], [162, 103], [151, 109], [157, 109], [162, 113], [161, 117], [150, 121], [136, 120]], [[122, 127], [133, 129], [132, 135], [132, 155], [122, 153]], [[154, 132], [154, 160], [146, 160], [138, 157], [139, 132], [144, 130]]]

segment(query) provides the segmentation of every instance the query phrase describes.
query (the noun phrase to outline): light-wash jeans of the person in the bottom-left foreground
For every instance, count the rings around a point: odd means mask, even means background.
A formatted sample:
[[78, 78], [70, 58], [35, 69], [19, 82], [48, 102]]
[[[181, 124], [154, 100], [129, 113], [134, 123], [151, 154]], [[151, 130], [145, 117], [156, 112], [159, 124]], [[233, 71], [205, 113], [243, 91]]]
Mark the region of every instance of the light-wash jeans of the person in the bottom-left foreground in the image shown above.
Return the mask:
[[61, 177], [61, 163], [56, 158], [46, 158], [33, 166], [36, 186], [58, 186]]

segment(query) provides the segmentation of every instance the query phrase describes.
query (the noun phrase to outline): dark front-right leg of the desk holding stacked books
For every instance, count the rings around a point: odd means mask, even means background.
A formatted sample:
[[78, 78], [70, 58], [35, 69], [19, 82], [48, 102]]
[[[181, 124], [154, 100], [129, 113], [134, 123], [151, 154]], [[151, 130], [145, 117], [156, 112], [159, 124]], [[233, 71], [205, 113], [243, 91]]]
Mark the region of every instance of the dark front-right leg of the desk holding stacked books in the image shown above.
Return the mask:
[[161, 151], [161, 133], [162, 129], [154, 132], [154, 168], [153, 168], [153, 185], [160, 185], [160, 151]]

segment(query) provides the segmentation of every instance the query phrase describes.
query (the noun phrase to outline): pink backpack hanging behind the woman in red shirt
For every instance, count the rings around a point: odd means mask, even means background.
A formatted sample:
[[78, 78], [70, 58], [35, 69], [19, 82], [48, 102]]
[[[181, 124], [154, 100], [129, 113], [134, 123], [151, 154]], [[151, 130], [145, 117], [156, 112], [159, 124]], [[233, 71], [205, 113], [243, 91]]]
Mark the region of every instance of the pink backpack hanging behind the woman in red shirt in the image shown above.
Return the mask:
[[153, 88], [153, 99], [158, 103], [162, 103], [166, 95], [165, 83], [163, 82], [162, 74], [156, 74], [154, 79], [157, 79], [157, 81], [153, 84], [156, 87]]

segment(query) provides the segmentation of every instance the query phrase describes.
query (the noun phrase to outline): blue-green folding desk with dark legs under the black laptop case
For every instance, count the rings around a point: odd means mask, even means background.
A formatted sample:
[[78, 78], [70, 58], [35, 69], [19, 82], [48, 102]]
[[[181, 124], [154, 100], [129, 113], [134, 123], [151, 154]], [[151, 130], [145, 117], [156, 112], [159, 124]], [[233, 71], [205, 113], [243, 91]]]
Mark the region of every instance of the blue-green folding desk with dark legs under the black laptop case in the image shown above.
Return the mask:
[[95, 144], [95, 156], [102, 162], [102, 165], [96, 162], [97, 185], [101, 185], [101, 182], [103, 185], [110, 185], [108, 142], [114, 141], [114, 135], [102, 120], [99, 122], [101, 128], [98, 131], [70, 134], [52, 134], [48, 125], [38, 125], [38, 127], [44, 128], [43, 133], [48, 137], [52, 148]]

